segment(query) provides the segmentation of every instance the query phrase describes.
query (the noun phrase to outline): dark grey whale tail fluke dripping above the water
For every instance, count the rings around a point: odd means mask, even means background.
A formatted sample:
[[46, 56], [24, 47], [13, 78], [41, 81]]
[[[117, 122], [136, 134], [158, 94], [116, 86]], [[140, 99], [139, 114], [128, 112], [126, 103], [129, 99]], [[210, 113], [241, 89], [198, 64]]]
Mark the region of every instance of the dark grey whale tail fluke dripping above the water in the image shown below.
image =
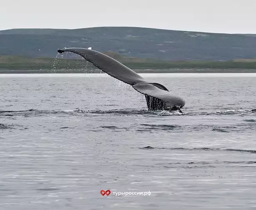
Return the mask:
[[64, 51], [76, 53], [108, 75], [132, 85], [135, 90], [145, 95], [148, 110], [179, 110], [181, 112], [180, 108], [185, 105], [182, 98], [173, 96], [163, 85], [146, 82], [136, 72], [103, 53], [84, 48], [64, 48], [59, 49], [58, 53]]

